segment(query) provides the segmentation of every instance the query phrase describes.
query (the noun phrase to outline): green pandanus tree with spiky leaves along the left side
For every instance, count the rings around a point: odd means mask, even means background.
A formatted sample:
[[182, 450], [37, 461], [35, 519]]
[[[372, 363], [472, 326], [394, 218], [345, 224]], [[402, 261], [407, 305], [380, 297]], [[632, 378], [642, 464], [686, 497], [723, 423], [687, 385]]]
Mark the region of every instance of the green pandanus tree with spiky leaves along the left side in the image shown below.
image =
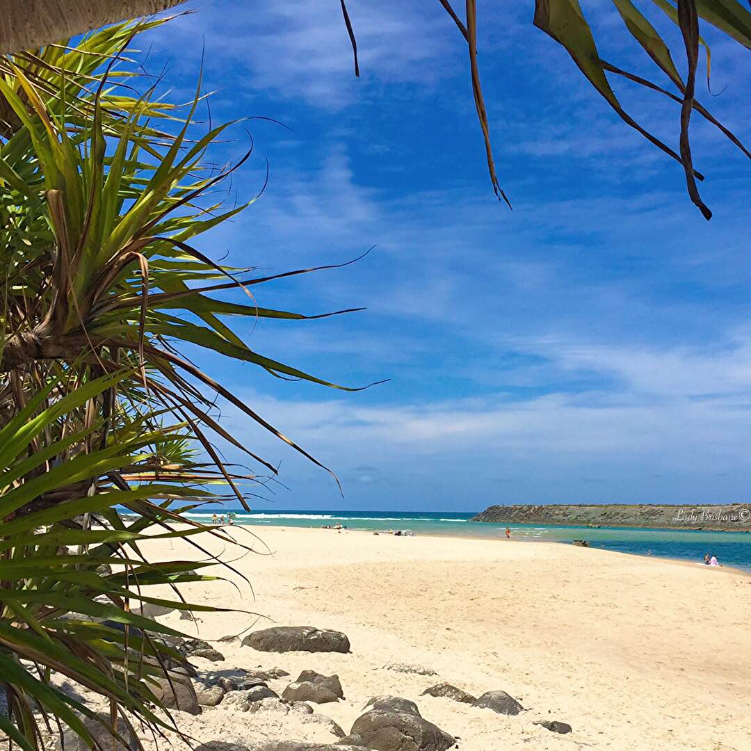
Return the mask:
[[[224, 320], [306, 316], [258, 305], [255, 290], [277, 277], [193, 246], [247, 207], [211, 197], [249, 154], [204, 168], [231, 124], [200, 130], [200, 82], [184, 110], [155, 101], [153, 88], [134, 95], [127, 48], [158, 23], [0, 61], [0, 728], [24, 749], [44, 746], [55, 722], [89, 745], [96, 723], [121, 737], [135, 719], [170, 725], [154, 677], [182, 658], [155, 637], [176, 632], [140, 606], [215, 609], [184, 602], [177, 587], [208, 579], [201, 568], [216, 559], [155, 563], [139, 543], [231, 541], [184, 516], [227, 496], [247, 508], [249, 485], [264, 481], [225, 465], [217, 439], [275, 471], [222, 427], [217, 397], [316, 461], [181, 348], [333, 386], [254, 351]], [[110, 712], [103, 719], [55, 676]]]

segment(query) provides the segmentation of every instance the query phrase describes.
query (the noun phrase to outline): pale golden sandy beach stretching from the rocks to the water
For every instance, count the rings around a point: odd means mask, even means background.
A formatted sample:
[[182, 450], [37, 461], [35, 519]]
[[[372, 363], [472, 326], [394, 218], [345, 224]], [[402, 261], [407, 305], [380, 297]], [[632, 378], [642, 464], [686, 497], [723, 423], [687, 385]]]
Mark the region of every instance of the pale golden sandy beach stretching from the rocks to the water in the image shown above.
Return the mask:
[[[253, 539], [248, 529], [228, 532]], [[210, 572], [231, 581], [181, 586], [189, 602], [254, 611], [260, 620], [210, 613], [192, 624], [177, 612], [158, 620], [207, 641], [250, 626], [336, 629], [351, 653], [263, 653], [236, 640], [214, 645], [225, 662], [195, 658], [199, 673], [279, 667], [291, 677], [270, 682], [277, 692], [303, 669], [336, 673], [345, 700], [312, 707], [345, 732], [369, 698], [393, 694], [415, 701], [466, 751], [751, 749], [751, 577], [742, 572], [551, 543], [284, 527], [260, 535], [273, 554], [256, 544], [258, 554], [223, 555], [236, 559], [255, 599], [226, 570]], [[165, 559], [198, 559], [183, 541], [151, 548]], [[393, 662], [436, 675], [384, 668]], [[421, 695], [439, 681], [475, 696], [502, 689], [526, 711], [503, 716]], [[290, 732], [225, 702], [200, 716], [178, 714], [201, 742]], [[573, 731], [550, 732], [534, 724], [540, 719]], [[323, 725], [297, 732], [337, 740]]]

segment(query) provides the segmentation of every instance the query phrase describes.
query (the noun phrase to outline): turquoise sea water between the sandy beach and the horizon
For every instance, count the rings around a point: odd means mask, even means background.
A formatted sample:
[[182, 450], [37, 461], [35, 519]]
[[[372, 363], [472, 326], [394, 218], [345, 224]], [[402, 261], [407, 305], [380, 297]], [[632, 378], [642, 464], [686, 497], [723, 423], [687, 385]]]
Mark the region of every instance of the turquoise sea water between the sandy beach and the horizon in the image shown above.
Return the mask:
[[[385, 532], [410, 529], [415, 535], [456, 535], [461, 537], [503, 538], [505, 524], [473, 522], [474, 514], [427, 511], [237, 511], [236, 524], [243, 526], [306, 526], [342, 524], [348, 529]], [[207, 522], [211, 512], [189, 514]], [[510, 524], [511, 539], [570, 543], [587, 540], [590, 547], [620, 553], [653, 555], [701, 562], [713, 553], [720, 563], [751, 571], [751, 533], [695, 532], [680, 529], [638, 529], [634, 527], [558, 526]]]

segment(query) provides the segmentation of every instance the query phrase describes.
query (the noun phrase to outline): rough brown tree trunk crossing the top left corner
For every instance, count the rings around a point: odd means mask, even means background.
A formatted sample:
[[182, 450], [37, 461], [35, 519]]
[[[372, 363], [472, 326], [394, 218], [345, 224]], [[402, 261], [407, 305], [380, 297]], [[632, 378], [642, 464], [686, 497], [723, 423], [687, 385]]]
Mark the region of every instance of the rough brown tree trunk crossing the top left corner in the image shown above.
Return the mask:
[[33, 50], [184, 0], [0, 0], [0, 53]]

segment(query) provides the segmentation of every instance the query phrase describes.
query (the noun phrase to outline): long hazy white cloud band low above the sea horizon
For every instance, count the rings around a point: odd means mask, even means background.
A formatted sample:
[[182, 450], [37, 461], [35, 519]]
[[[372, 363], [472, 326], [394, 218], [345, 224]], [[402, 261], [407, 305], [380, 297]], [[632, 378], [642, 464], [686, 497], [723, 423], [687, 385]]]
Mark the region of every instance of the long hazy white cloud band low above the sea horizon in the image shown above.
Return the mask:
[[[597, 464], [610, 476], [624, 466], [635, 475], [654, 471], [705, 473], [751, 468], [751, 338], [732, 339], [721, 357], [710, 350], [557, 346], [553, 365], [614, 376], [619, 388], [520, 396], [496, 391], [482, 397], [394, 401], [398, 384], [366, 395], [283, 400], [253, 391], [244, 400], [282, 432], [334, 466], [378, 466], [385, 472], [448, 470], [499, 463], [557, 471], [562, 476]], [[550, 353], [547, 353], [550, 354]], [[550, 374], [549, 374], [550, 375]], [[391, 403], [373, 403], [379, 399]], [[228, 426], [249, 445], [287, 455], [235, 410]], [[652, 468], [651, 470], [648, 468]], [[377, 481], [372, 471], [362, 481]], [[369, 478], [363, 480], [364, 477]]]

